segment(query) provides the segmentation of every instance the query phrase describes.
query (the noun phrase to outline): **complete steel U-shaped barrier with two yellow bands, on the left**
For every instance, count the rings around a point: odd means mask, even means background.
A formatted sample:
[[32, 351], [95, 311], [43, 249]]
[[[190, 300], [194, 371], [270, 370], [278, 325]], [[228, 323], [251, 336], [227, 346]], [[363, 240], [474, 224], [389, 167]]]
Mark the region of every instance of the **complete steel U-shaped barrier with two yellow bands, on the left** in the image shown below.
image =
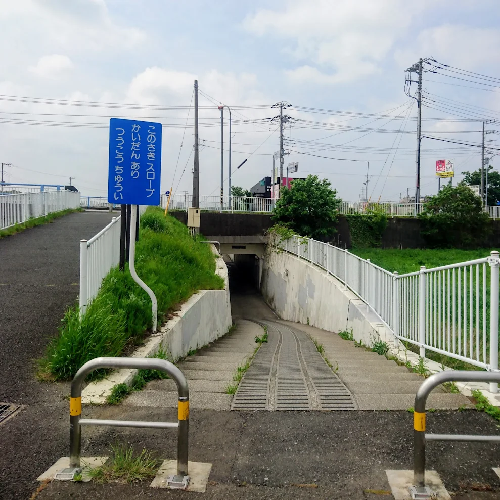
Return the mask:
[[[99, 368], [135, 368], [161, 370], [166, 372], [177, 385], [179, 392], [178, 422], [143, 422], [128, 420], [98, 420], [81, 418], [81, 387], [85, 377]], [[189, 445], [189, 389], [184, 374], [170, 361], [157, 358], [121, 358], [97, 357], [87, 361], [73, 378], [71, 383], [70, 413], [70, 443], [69, 466], [79, 469], [81, 453], [82, 425], [109, 425], [115, 427], [146, 427], [156, 429], [177, 429], [177, 474], [188, 475], [188, 445]]]

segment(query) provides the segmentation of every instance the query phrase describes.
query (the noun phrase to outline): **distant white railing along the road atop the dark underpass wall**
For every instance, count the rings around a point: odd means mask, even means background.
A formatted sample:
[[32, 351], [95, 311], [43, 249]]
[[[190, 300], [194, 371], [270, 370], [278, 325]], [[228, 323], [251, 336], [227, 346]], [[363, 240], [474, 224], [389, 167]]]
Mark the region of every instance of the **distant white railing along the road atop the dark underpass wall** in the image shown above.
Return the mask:
[[[161, 207], [167, 206], [167, 195], [161, 195]], [[98, 206], [107, 207], [106, 198], [82, 196], [82, 206]], [[102, 200], [100, 202], [99, 200]], [[271, 198], [254, 198], [247, 196], [232, 196], [231, 201], [229, 196], [200, 196], [201, 210], [213, 212], [272, 212], [276, 206], [276, 199]], [[184, 210], [187, 211], [192, 206], [192, 196], [189, 193], [173, 194], [170, 197], [169, 210]], [[354, 214], [369, 214], [371, 211], [384, 211], [388, 217], [415, 217], [423, 209], [424, 204], [419, 203], [397, 203], [390, 201], [381, 202], [362, 202], [362, 201], [343, 201], [340, 203], [337, 213], [339, 215], [354, 215]], [[490, 218], [500, 218], [500, 206], [488, 206], [484, 209], [488, 212]]]

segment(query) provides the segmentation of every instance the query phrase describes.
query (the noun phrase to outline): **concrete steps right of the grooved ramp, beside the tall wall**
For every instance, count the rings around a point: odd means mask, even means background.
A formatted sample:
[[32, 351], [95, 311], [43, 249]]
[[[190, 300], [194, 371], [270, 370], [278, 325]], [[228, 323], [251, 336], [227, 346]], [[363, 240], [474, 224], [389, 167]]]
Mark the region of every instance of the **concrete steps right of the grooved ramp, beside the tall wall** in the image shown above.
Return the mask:
[[[424, 378], [400, 367], [376, 352], [356, 347], [354, 342], [344, 340], [336, 333], [320, 330], [309, 325], [287, 321], [314, 338], [325, 349], [324, 355], [337, 375], [356, 399], [359, 410], [407, 410], [413, 408], [415, 394]], [[437, 387], [427, 399], [427, 407], [436, 410], [472, 406], [462, 394], [450, 394]]]

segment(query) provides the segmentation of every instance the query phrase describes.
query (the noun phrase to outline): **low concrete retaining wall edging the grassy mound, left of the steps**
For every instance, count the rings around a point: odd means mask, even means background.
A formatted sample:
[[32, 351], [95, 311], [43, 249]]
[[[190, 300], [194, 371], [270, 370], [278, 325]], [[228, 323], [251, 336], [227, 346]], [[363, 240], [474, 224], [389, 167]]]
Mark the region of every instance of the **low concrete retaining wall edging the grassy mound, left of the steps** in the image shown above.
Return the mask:
[[[212, 245], [215, 252], [215, 247]], [[224, 290], [202, 290], [194, 294], [173, 318], [130, 357], [152, 357], [160, 346], [168, 353], [169, 360], [185, 357], [197, 349], [226, 334], [233, 324], [229, 294], [228, 268], [217, 253], [216, 272], [224, 280]], [[82, 392], [85, 404], [104, 404], [113, 386], [130, 385], [137, 370], [116, 370], [105, 379], [88, 384]]]

